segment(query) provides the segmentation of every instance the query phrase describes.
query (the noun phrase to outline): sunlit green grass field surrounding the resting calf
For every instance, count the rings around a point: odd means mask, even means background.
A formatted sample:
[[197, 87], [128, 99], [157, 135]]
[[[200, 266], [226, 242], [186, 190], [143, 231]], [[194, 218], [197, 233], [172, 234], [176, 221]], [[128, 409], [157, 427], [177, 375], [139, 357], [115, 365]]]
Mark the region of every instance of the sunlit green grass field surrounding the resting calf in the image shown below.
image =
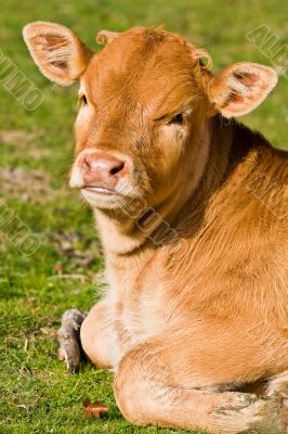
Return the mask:
[[[88, 310], [97, 299], [101, 288], [94, 276], [103, 269], [103, 257], [89, 209], [65, 188], [73, 155], [75, 89], [56, 88], [38, 73], [23, 43], [22, 27], [35, 20], [60, 22], [96, 47], [94, 37], [101, 28], [165, 24], [207, 48], [218, 69], [243, 60], [270, 65], [245, 35], [265, 24], [286, 43], [287, 9], [279, 0], [225, 0], [221, 7], [215, 0], [5, 0], [1, 52], [41, 89], [44, 100], [35, 112], [23, 108], [5, 90], [0, 63], [0, 199], [41, 244], [25, 256], [6, 229], [0, 232], [0, 433], [183, 433], [132, 426], [116, 407], [109, 372], [82, 362], [77, 375], [68, 375], [56, 359], [61, 315], [73, 306]], [[269, 100], [244, 118], [278, 148], [287, 148], [287, 80], [280, 77]], [[13, 182], [4, 180], [3, 174], [13, 167]], [[110, 411], [101, 420], [86, 419], [86, 398], [104, 401]]]

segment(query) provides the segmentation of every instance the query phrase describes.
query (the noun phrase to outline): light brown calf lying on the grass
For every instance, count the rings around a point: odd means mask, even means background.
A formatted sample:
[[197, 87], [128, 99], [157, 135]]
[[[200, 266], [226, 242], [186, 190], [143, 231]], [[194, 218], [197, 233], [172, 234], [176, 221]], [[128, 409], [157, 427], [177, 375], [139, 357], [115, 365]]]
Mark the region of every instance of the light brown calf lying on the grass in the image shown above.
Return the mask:
[[287, 154], [233, 119], [275, 72], [212, 74], [207, 52], [161, 28], [101, 31], [96, 53], [57, 24], [24, 38], [48, 78], [80, 81], [70, 187], [95, 214], [108, 281], [80, 337], [116, 371], [123, 416], [284, 433]]

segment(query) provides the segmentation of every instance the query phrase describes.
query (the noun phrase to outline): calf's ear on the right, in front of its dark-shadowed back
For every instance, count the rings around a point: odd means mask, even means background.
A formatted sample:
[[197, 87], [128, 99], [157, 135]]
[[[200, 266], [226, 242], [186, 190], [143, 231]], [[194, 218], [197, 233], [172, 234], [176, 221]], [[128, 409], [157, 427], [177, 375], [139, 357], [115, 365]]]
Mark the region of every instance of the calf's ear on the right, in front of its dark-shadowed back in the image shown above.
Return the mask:
[[274, 69], [241, 62], [214, 75], [209, 82], [208, 94], [214, 108], [223, 116], [243, 116], [261, 104], [276, 84]]

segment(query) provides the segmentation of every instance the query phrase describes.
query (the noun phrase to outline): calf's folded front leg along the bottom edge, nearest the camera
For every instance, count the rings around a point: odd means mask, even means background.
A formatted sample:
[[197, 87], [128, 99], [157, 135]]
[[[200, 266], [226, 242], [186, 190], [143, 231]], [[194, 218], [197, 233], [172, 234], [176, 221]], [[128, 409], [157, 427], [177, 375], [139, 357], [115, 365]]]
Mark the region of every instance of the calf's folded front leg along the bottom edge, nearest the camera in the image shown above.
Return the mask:
[[[201, 324], [189, 330], [183, 327], [184, 331], [169, 331], [128, 353], [114, 383], [123, 416], [140, 425], [284, 434], [285, 417], [277, 394], [258, 397], [221, 392], [225, 386], [231, 390], [233, 383], [236, 387], [257, 380], [272, 368], [272, 360], [264, 363], [265, 352], [257, 347], [257, 339], [247, 335], [244, 341], [241, 328], [237, 332], [227, 329], [211, 329], [207, 341]], [[228, 334], [230, 346], [225, 342]]]

